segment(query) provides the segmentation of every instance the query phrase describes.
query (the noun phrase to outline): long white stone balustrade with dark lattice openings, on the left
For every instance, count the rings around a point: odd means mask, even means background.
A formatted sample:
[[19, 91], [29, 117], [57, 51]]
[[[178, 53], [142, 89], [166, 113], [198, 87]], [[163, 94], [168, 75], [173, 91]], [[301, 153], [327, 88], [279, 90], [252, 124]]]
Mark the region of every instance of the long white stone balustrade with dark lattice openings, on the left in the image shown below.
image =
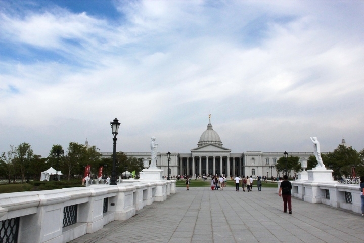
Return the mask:
[[117, 186], [0, 194], [0, 232], [19, 243], [66, 243], [114, 220], [127, 220], [154, 201], [166, 200], [175, 193], [175, 183], [124, 180]]

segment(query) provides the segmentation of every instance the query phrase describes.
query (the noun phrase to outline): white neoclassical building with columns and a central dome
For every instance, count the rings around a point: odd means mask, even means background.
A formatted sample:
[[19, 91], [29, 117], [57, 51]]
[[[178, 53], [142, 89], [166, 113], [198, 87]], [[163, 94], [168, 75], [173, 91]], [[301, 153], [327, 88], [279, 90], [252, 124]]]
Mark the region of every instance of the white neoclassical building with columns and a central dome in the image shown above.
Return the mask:
[[[279, 176], [275, 165], [277, 160], [284, 156], [284, 152], [246, 151], [231, 153], [231, 149], [223, 147], [220, 136], [213, 130], [211, 119], [207, 129], [200, 136], [196, 148], [191, 153], [171, 152], [169, 168], [171, 177], [178, 175], [225, 175], [226, 177], [239, 176]], [[102, 153], [103, 156], [112, 155], [111, 152]], [[136, 158], [150, 158], [150, 152], [125, 152], [127, 156]], [[288, 152], [288, 156], [308, 158], [313, 152]], [[167, 152], [158, 152], [157, 167], [167, 176]]]

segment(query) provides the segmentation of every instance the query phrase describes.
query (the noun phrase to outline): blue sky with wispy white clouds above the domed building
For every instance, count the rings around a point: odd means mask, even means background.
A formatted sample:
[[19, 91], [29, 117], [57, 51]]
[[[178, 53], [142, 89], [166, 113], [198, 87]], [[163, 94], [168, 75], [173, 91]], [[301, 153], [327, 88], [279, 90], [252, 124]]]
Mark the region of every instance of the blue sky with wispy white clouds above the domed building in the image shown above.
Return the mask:
[[0, 0], [0, 152], [364, 148], [364, 1]]

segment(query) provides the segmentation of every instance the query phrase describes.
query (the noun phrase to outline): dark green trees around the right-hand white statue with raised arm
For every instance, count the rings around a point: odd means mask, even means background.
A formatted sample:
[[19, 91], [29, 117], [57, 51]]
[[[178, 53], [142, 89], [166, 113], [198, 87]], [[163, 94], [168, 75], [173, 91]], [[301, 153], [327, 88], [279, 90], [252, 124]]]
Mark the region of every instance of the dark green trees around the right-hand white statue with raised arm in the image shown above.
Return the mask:
[[[353, 178], [354, 176], [364, 175], [364, 149], [360, 152], [352, 147], [339, 145], [333, 152], [321, 154], [326, 169], [333, 170], [333, 176], [336, 180], [340, 178]], [[317, 166], [315, 156], [309, 156], [306, 170], [311, 170]], [[275, 166], [277, 173], [285, 173], [286, 159], [280, 157]], [[297, 173], [302, 171], [299, 157], [290, 156], [287, 158], [287, 171], [289, 177], [297, 177]], [[291, 174], [293, 173], [293, 174]], [[353, 175], [355, 174], [355, 175]]]

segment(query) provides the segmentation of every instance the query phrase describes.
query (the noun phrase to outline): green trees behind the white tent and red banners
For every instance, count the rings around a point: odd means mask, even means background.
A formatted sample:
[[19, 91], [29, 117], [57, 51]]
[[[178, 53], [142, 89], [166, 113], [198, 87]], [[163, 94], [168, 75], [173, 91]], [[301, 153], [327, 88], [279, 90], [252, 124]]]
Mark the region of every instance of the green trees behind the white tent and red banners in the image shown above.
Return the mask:
[[[103, 166], [103, 175], [111, 175], [112, 156], [102, 157], [96, 146], [86, 146], [70, 142], [66, 151], [59, 144], [53, 145], [49, 156], [42, 157], [34, 154], [31, 145], [22, 143], [17, 147], [10, 145], [10, 150], [0, 156], [0, 177], [8, 183], [16, 181], [40, 180], [41, 172], [53, 167], [62, 171], [63, 177], [80, 179], [84, 176], [84, 169], [90, 165], [90, 176], [97, 178], [98, 170]], [[122, 172], [135, 171], [136, 175], [143, 170], [143, 162], [140, 158], [127, 157], [123, 152], [116, 153], [116, 176], [122, 176]]]

